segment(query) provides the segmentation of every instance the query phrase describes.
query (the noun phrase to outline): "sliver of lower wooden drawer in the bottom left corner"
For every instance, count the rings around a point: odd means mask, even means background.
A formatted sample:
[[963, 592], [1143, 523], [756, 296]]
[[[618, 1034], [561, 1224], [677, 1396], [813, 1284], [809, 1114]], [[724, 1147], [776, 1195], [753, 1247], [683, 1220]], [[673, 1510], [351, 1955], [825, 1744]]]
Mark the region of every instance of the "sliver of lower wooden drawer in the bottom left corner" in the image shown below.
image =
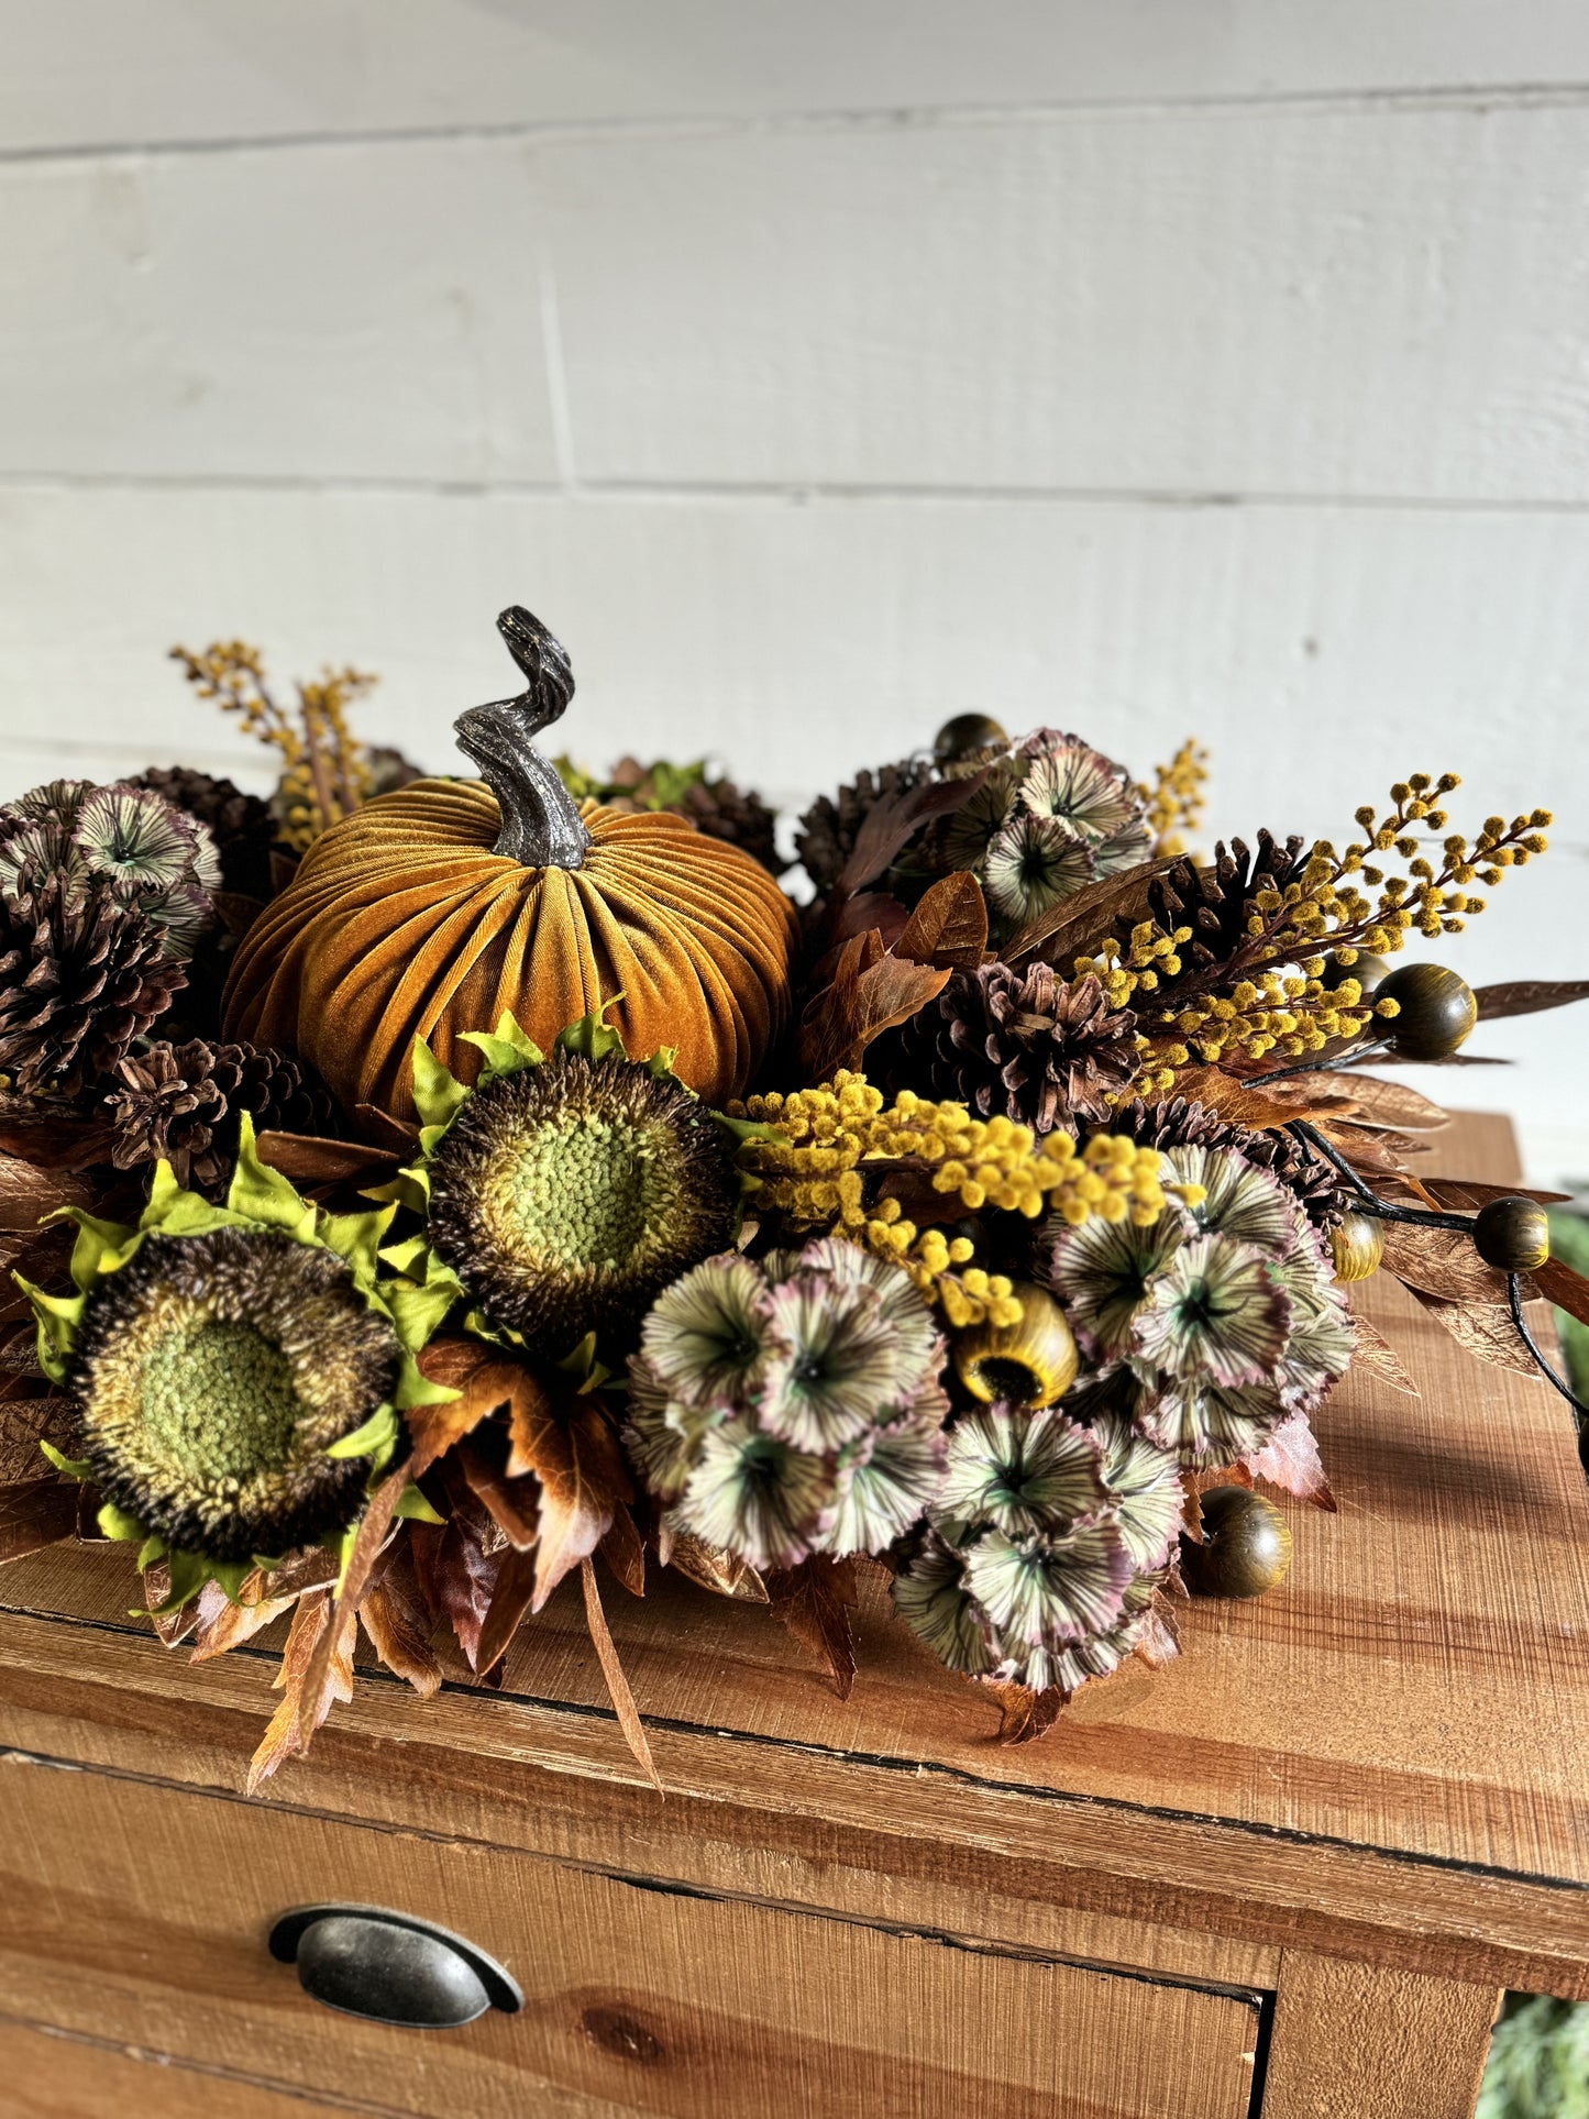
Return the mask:
[[[108, 2119], [155, 2113], [161, 2119], [333, 2119], [386, 2111], [367, 2100], [324, 2100], [225, 2070], [174, 2062], [144, 2045], [117, 2045], [78, 2032], [0, 2017], [0, 2083], [6, 2119]], [[390, 2108], [388, 2108], [390, 2111]]]

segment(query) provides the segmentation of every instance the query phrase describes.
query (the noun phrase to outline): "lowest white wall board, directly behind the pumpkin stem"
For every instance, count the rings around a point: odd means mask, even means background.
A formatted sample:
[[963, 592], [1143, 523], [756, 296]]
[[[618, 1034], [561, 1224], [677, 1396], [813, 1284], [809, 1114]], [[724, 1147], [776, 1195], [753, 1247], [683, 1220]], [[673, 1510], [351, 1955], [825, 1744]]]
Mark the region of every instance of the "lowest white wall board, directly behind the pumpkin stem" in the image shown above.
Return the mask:
[[[1458, 769], [1460, 822], [1547, 801], [1557, 845], [1451, 960], [1585, 977], [1587, 568], [1589, 521], [1549, 515], [0, 487], [0, 790], [172, 759], [263, 786], [163, 663], [239, 631], [282, 676], [381, 670], [362, 727], [458, 769], [525, 600], [574, 657], [578, 756], [716, 750], [786, 805], [964, 706], [1144, 771], [1201, 733], [1210, 839], [1341, 837], [1398, 773]], [[1528, 1064], [1436, 1093], [1517, 1112], [1536, 1178], [1589, 1172], [1589, 1011], [1479, 1036]]]

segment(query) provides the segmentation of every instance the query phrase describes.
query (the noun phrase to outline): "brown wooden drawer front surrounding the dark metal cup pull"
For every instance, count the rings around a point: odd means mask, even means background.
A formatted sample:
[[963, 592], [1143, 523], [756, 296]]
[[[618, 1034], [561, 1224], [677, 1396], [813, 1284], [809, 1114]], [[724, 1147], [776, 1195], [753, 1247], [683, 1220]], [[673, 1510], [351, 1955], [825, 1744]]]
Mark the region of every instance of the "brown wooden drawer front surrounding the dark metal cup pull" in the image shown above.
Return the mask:
[[[0, 1761], [0, 1816], [6, 2017], [362, 2111], [1244, 2119], [1250, 2106], [1248, 1994], [19, 1755]], [[621, 1869], [623, 1848], [612, 1856]], [[333, 2015], [265, 1949], [275, 1913], [320, 1899], [468, 1935], [519, 1979], [523, 2013], [449, 2032]], [[68, 2079], [72, 2051], [61, 2041]]]

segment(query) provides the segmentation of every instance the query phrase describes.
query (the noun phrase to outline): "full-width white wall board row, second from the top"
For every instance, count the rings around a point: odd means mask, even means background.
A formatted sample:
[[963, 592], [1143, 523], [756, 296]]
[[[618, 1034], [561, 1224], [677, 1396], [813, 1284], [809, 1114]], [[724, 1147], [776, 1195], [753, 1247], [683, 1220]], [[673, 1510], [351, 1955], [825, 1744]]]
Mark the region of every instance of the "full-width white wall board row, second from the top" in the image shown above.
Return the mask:
[[1583, 504], [1585, 167], [1589, 108], [13, 163], [0, 470]]

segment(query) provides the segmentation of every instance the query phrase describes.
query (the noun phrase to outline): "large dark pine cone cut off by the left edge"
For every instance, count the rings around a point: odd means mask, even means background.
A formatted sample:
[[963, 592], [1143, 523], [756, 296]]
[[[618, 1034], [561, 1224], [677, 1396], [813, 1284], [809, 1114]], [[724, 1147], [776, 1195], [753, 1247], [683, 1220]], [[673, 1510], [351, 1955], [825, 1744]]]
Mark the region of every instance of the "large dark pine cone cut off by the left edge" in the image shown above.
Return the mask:
[[0, 898], [0, 1072], [64, 1096], [114, 1074], [186, 983], [161, 951], [159, 928], [102, 882], [51, 875]]

